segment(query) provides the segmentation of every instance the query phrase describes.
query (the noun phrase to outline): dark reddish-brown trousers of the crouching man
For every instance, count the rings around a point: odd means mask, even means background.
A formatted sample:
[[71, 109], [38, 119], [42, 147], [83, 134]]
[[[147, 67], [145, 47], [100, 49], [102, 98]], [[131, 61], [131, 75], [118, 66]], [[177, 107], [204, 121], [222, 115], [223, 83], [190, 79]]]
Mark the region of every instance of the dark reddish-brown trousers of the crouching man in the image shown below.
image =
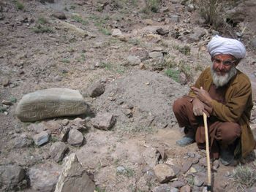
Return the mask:
[[[203, 115], [193, 113], [192, 97], [183, 96], [173, 103], [173, 112], [180, 127], [185, 127], [185, 134], [195, 135], [195, 141], [200, 149], [206, 147], [206, 135], [203, 125]], [[236, 140], [241, 137], [241, 127], [238, 123], [222, 122], [210, 117], [208, 123], [208, 137], [211, 158], [219, 158], [219, 147], [230, 147], [234, 150]]]

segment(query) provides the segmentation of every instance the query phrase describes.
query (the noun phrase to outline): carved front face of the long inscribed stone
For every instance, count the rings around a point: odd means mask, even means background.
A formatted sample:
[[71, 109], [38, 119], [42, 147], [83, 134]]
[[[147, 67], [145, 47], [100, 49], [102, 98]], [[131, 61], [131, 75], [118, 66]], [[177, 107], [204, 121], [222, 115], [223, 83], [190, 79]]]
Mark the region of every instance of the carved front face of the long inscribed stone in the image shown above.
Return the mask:
[[85, 112], [83, 101], [49, 101], [22, 104], [20, 114], [27, 119], [53, 118], [56, 116], [78, 115]]

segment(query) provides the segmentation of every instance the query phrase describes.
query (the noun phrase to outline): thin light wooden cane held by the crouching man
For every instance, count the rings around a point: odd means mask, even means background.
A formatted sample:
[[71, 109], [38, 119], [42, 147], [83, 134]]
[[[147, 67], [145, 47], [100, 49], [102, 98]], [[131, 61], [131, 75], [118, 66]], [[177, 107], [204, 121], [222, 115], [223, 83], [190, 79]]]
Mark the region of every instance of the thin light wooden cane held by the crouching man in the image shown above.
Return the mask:
[[211, 191], [211, 165], [210, 165], [207, 116], [206, 116], [205, 112], [203, 112], [203, 123], [204, 123], [204, 126], [205, 126], [205, 133], [206, 133], [207, 191]]

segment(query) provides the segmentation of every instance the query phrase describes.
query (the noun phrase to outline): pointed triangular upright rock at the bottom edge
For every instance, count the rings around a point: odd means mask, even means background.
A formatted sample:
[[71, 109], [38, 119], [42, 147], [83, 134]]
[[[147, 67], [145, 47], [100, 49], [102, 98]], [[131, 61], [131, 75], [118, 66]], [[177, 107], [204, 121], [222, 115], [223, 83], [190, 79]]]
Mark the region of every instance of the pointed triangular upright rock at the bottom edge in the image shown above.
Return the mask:
[[55, 192], [94, 192], [95, 185], [78, 161], [75, 153], [67, 158], [59, 177]]

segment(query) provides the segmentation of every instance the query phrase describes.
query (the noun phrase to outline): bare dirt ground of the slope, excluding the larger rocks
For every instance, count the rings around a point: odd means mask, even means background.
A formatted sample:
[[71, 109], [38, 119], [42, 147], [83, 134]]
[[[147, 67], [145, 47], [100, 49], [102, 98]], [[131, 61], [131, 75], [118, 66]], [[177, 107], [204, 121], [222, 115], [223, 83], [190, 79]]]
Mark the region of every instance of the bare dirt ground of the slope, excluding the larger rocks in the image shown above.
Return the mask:
[[[110, 131], [100, 131], [88, 124], [89, 131], [84, 133], [86, 144], [69, 146], [69, 154], [76, 153], [83, 167], [94, 175], [98, 192], [154, 191], [161, 185], [152, 171], [156, 164], [165, 162], [182, 172], [187, 161], [193, 159], [189, 154], [200, 155], [202, 161], [205, 159], [204, 151], [198, 150], [195, 144], [176, 145], [183, 133], [172, 112], [173, 101], [186, 94], [189, 85], [210, 64], [206, 44], [213, 31], [196, 21], [199, 20], [199, 16], [195, 16], [197, 9], [189, 9], [189, 2], [161, 1], [157, 13], [143, 12], [145, 1], [142, 0], [19, 2], [23, 4], [22, 9], [15, 1], [0, 0], [0, 100], [12, 101], [10, 107], [0, 104], [0, 165], [18, 164], [27, 170], [27, 174], [32, 167], [46, 164], [61, 167], [48, 155], [55, 139], [42, 147], [13, 147], [20, 134], [32, 137], [34, 132], [28, 127], [39, 123], [23, 123], [16, 118], [18, 101], [26, 93], [45, 88], [78, 90], [94, 113], [111, 112], [116, 116], [116, 125]], [[243, 33], [241, 40], [247, 52], [238, 69], [252, 81], [254, 102], [255, 7], [255, 1], [250, 0], [238, 1], [237, 7], [230, 9], [230, 12], [243, 13], [240, 23], [232, 30], [233, 34]], [[53, 16], [59, 11], [64, 12], [66, 20]], [[178, 21], [172, 20], [176, 16]], [[86, 35], [73, 31], [65, 23], [83, 29]], [[188, 35], [197, 27], [204, 27], [206, 34], [191, 42]], [[121, 30], [121, 36], [111, 35], [116, 28]], [[167, 30], [169, 34], [157, 34], [157, 28]], [[181, 34], [178, 39], [173, 36], [177, 31]], [[190, 47], [190, 54], [182, 53], [181, 47], [185, 45]], [[149, 57], [148, 53], [154, 50], [163, 53], [165, 58]], [[129, 55], [138, 55], [146, 69], [129, 63]], [[174, 69], [185, 66], [182, 83], [167, 77], [167, 66]], [[94, 82], [105, 85], [105, 93], [97, 98], [88, 96], [88, 88]], [[131, 106], [132, 117], [125, 113], [127, 106]], [[74, 118], [68, 119], [72, 121]], [[43, 122], [58, 126], [61, 120], [63, 118]], [[251, 123], [256, 133], [255, 107]], [[58, 137], [58, 133], [52, 134], [52, 138], [58, 140]], [[165, 149], [165, 160], [160, 158], [161, 148]], [[177, 180], [188, 183], [192, 191], [203, 191], [203, 186], [191, 182], [191, 177], [200, 174], [206, 177], [203, 164], [195, 163], [195, 169], [199, 167], [199, 171], [193, 173], [190, 169], [190, 172], [179, 174]], [[241, 164], [255, 171], [255, 151]], [[129, 174], [117, 174], [118, 166], [123, 166]], [[236, 181], [234, 184], [229, 177], [233, 169], [219, 164], [213, 173], [214, 191], [249, 189], [239, 188]], [[252, 186], [256, 186], [255, 183]], [[34, 189], [27, 184], [21, 191]]]

